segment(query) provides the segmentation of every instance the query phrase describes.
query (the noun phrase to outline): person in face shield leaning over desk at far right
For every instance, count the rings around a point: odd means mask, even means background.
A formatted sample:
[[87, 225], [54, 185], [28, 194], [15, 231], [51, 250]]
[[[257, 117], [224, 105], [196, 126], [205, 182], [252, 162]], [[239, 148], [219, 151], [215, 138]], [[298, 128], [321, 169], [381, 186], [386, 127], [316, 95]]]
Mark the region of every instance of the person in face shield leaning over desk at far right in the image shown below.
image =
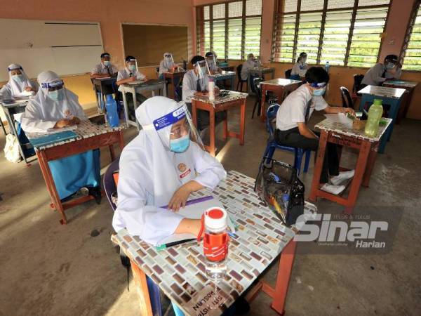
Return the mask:
[[396, 55], [387, 55], [383, 63], [379, 62], [371, 67], [361, 81], [361, 88], [365, 86], [381, 86], [387, 80], [399, 79], [402, 65]]

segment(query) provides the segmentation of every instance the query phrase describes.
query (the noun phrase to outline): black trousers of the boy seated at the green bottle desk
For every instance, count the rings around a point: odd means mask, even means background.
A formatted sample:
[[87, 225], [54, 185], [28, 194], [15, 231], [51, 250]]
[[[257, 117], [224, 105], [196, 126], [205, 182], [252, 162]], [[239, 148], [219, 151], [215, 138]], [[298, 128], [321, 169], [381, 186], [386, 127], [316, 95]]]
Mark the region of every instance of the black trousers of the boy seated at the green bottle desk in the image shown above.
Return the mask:
[[[314, 132], [317, 136], [320, 133]], [[307, 138], [300, 134], [298, 127], [288, 129], [287, 131], [280, 131], [276, 129], [275, 140], [279, 145], [293, 146], [302, 148], [303, 150], [312, 150], [317, 152], [319, 147], [319, 140], [315, 138]], [[320, 183], [328, 183], [329, 176], [338, 176], [339, 174], [339, 145], [327, 143], [326, 154], [323, 160], [323, 169], [321, 171]], [[316, 156], [314, 157], [316, 158]], [[314, 159], [316, 161], [316, 159]]]

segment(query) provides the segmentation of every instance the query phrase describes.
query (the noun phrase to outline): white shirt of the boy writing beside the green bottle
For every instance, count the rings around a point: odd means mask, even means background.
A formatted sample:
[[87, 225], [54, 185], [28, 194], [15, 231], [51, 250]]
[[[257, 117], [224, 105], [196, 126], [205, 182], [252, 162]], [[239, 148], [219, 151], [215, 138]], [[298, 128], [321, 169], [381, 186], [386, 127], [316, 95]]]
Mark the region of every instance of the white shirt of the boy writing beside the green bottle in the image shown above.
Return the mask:
[[276, 113], [276, 129], [288, 131], [288, 129], [298, 127], [297, 123], [306, 122], [307, 105], [310, 106], [307, 121], [314, 110], [321, 111], [328, 107], [323, 96], [313, 96], [307, 86], [303, 84], [283, 100]]

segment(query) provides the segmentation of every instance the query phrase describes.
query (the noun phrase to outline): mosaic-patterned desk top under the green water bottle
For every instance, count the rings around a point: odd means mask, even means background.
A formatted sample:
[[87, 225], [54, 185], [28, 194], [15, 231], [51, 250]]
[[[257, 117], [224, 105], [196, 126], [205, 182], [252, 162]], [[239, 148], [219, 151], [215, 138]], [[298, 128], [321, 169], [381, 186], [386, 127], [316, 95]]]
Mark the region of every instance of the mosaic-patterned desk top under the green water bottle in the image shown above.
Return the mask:
[[375, 137], [368, 137], [364, 133], [364, 130], [359, 131], [356, 129], [352, 129], [352, 127], [349, 127], [347, 124], [343, 124], [338, 121], [331, 121], [330, 119], [323, 119], [323, 121], [321, 121], [319, 124], [316, 124], [314, 127], [316, 129], [333, 131], [335, 133], [351, 136], [354, 138], [369, 140], [370, 142], [374, 143], [378, 142], [380, 138], [382, 138], [382, 135], [385, 133], [387, 126], [389, 126], [389, 124], [392, 123], [392, 119], [387, 119], [383, 117], [382, 120], [385, 120], [386, 124], [382, 124], [379, 126], [379, 131], [377, 132], [377, 136]]

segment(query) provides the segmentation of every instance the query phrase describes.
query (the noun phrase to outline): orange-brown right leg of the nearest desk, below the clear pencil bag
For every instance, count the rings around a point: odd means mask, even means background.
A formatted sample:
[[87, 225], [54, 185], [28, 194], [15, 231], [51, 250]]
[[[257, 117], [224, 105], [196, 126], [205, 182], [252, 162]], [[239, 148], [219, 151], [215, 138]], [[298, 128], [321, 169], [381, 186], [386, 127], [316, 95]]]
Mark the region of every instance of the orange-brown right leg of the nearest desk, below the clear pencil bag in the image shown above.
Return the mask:
[[271, 307], [281, 315], [285, 313], [286, 294], [288, 294], [288, 285], [290, 282], [291, 271], [293, 270], [295, 247], [297, 242], [291, 239], [285, 246], [279, 258], [278, 274], [276, 276], [276, 286], [274, 291], [274, 300]]

